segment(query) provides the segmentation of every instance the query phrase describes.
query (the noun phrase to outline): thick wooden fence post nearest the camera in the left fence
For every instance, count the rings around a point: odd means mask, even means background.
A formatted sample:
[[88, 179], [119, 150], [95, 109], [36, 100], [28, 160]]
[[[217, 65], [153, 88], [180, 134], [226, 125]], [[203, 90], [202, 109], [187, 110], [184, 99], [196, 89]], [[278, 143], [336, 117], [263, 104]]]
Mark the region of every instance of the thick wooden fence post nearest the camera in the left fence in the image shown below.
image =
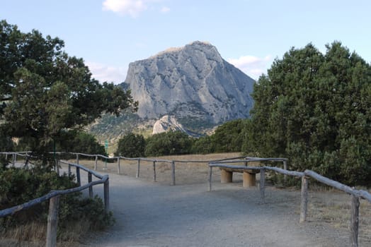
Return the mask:
[[46, 246], [55, 247], [57, 244], [59, 195], [49, 200], [49, 215], [47, 216], [47, 238]]

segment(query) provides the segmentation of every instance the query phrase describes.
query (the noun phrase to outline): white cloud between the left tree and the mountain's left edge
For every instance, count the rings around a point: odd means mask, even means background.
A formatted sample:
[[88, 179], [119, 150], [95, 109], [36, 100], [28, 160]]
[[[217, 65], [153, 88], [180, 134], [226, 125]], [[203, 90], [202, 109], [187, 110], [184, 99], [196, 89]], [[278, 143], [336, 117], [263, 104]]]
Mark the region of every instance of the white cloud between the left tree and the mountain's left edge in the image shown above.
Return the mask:
[[108, 83], [118, 84], [125, 81], [127, 73], [126, 66], [114, 67], [94, 62], [86, 62], [86, 65], [93, 74], [93, 78], [96, 78], [101, 83], [107, 81]]

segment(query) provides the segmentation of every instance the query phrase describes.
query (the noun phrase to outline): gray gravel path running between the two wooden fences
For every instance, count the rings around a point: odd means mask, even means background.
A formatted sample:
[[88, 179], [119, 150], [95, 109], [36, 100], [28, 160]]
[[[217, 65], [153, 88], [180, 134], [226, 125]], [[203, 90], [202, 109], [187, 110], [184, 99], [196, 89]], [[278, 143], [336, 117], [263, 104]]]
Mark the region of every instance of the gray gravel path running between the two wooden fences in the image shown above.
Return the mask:
[[[99, 188], [96, 191], [101, 191]], [[348, 232], [299, 224], [299, 191], [241, 183], [168, 186], [110, 174], [115, 226], [81, 246], [349, 246]]]

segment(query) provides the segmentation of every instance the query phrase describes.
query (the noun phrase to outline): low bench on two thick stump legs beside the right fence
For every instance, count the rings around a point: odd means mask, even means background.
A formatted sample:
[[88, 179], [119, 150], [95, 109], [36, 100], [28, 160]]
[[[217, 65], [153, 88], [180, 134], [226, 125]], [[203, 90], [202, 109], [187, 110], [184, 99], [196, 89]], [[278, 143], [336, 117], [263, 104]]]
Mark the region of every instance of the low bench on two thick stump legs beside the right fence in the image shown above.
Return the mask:
[[261, 172], [260, 170], [255, 169], [235, 169], [235, 168], [225, 168], [219, 167], [220, 169], [220, 182], [221, 183], [232, 183], [233, 173], [240, 172], [244, 179], [244, 187], [253, 187], [256, 186], [256, 174]]

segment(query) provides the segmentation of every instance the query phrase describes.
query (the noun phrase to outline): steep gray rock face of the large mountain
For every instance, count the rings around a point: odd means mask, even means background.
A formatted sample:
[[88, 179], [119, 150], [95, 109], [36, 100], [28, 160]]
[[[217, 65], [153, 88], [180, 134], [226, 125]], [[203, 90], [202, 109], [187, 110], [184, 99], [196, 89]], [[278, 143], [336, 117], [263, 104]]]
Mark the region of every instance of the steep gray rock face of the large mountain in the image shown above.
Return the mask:
[[168, 49], [129, 65], [125, 83], [143, 119], [171, 115], [223, 123], [249, 117], [252, 78], [205, 42]]

